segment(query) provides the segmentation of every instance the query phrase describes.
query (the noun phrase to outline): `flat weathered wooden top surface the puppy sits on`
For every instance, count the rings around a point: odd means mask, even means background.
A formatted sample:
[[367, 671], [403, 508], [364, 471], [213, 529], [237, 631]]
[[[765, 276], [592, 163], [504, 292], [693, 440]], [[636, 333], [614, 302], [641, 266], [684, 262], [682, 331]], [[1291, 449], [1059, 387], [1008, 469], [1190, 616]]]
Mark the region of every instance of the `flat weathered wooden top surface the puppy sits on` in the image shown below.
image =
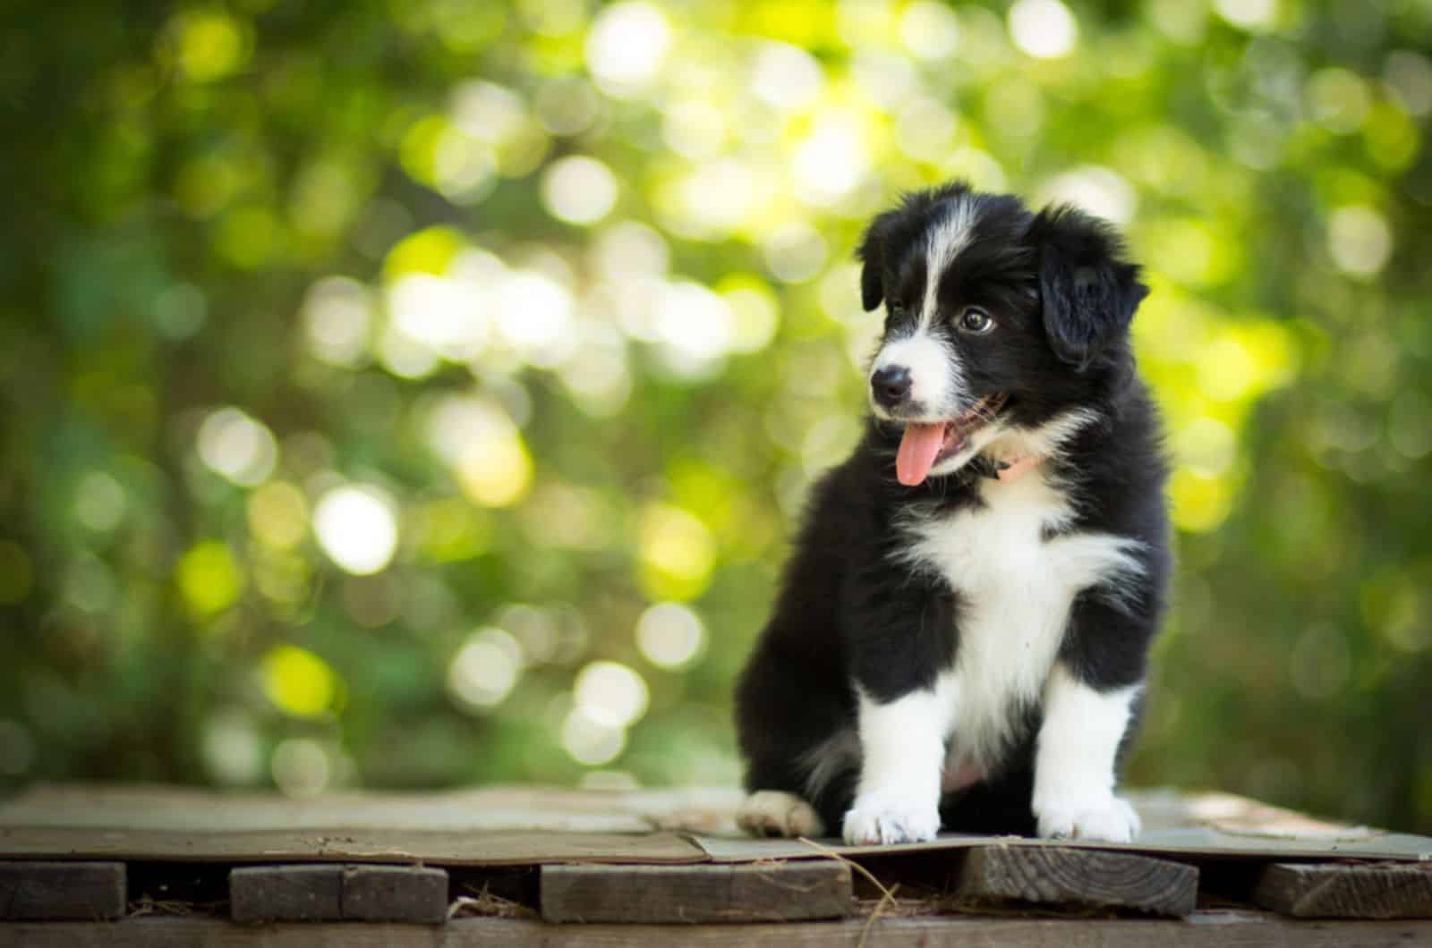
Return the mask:
[[[1432, 859], [1432, 839], [1309, 819], [1226, 793], [1130, 792], [1144, 823], [1133, 843], [1077, 848], [1263, 861]], [[798, 841], [735, 835], [735, 788], [556, 790], [507, 786], [441, 793], [272, 792], [37, 785], [0, 801], [0, 859], [209, 862], [697, 864], [811, 858]], [[652, 828], [663, 832], [649, 833]], [[700, 846], [679, 831], [706, 833]], [[842, 855], [935, 852], [987, 843], [947, 835]], [[1028, 839], [1020, 845], [1042, 846]]]

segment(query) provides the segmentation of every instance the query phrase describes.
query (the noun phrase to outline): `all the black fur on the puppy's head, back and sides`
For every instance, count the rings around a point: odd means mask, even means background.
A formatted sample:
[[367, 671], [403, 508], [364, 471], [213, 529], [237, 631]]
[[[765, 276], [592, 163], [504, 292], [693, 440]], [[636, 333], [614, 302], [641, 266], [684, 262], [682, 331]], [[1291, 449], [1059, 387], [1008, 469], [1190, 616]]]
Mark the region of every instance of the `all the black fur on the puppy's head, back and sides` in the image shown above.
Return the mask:
[[[886, 304], [886, 338], [914, 331], [925, 238], [957, 202], [972, 202], [975, 223], [955, 263], [937, 275], [941, 318], [969, 305], [1000, 318], [998, 332], [978, 338], [941, 324], [971, 397], [1008, 394], [1004, 414], [1024, 427], [1071, 408], [1097, 415], [1045, 463], [1077, 510], [1063, 530], [1144, 544], [1144, 576], [1121, 590], [1123, 600], [1097, 587], [1075, 599], [1060, 657], [1097, 690], [1138, 683], [1170, 570], [1158, 422], [1127, 332], [1147, 288], [1103, 222], [1064, 208], [1034, 215], [1015, 198], [955, 183], [906, 196], [865, 232], [861, 295], [866, 309]], [[746, 788], [806, 798], [832, 833], [852, 803], [858, 746], [823, 765], [831, 779], [822, 786], [808, 788], [808, 776], [818, 763], [812, 755], [839, 746], [839, 735], [855, 727], [855, 685], [894, 700], [931, 686], [959, 649], [958, 593], [937, 574], [895, 566], [891, 554], [908, 543], [898, 516], [979, 504], [978, 481], [967, 465], [901, 485], [894, 458], [902, 428], [871, 417], [855, 453], [815, 485], [780, 597], [737, 687]], [[945, 829], [1034, 832], [1040, 709], [1010, 713], [1021, 719], [1017, 739], [984, 782], [942, 801]]]

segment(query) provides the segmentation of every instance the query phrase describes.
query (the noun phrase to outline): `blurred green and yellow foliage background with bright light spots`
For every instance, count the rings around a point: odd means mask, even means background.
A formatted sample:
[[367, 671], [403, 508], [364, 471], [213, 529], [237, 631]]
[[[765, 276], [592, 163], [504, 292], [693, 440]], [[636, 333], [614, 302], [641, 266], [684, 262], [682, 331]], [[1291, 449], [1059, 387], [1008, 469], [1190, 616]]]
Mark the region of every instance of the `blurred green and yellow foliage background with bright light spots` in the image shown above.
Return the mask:
[[1148, 266], [1131, 779], [1432, 831], [1428, 0], [6, 20], [6, 785], [733, 783], [852, 246], [964, 176]]

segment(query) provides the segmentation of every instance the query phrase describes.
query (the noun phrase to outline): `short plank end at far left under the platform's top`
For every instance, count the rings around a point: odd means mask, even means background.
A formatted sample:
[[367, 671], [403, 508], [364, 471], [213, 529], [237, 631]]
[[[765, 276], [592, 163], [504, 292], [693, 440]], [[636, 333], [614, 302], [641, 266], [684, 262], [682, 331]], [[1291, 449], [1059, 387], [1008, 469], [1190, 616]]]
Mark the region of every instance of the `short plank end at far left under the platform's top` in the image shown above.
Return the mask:
[[125, 914], [123, 862], [0, 862], [0, 918], [106, 919]]

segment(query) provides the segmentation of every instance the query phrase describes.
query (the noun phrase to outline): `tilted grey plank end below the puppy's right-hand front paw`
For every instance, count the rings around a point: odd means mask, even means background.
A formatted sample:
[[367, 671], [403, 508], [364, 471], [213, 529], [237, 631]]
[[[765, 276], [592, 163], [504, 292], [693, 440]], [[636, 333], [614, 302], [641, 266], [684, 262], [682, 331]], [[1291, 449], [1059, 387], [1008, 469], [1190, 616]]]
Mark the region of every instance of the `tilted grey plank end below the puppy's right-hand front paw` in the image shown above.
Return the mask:
[[955, 898], [1184, 916], [1199, 898], [1199, 871], [1124, 852], [992, 845], [965, 855]]

